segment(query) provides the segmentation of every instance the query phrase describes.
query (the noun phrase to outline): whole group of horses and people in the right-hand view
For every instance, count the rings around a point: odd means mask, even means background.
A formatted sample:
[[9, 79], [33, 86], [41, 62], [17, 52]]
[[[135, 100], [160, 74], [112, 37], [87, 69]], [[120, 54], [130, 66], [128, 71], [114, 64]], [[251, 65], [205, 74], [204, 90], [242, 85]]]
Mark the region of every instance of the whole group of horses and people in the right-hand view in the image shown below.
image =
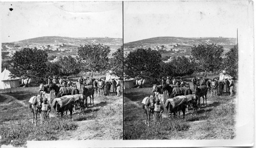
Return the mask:
[[[145, 111], [145, 116], [146, 116], [145, 124], [147, 126], [150, 125], [151, 114], [154, 115], [154, 104], [156, 103], [156, 99], [159, 99], [161, 105], [165, 106], [165, 108], [169, 113], [169, 116], [171, 116], [172, 114], [176, 115], [178, 112], [180, 114], [180, 111], [182, 111], [183, 119], [184, 119], [186, 108], [194, 109], [193, 113], [197, 114], [197, 110], [201, 106], [200, 104], [201, 97], [203, 98], [203, 105], [204, 105], [204, 100], [205, 100], [205, 103], [207, 104], [206, 102], [207, 92], [209, 92], [209, 97], [216, 96], [216, 92], [217, 92], [217, 95], [220, 96], [224, 94], [224, 86], [225, 86], [226, 88], [225, 93], [227, 94], [230, 93], [229, 92], [230, 81], [228, 79], [219, 80], [219, 77], [216, 77], [214, 79], [194, 77], [191, 80], [195, 90], [194, 93], [193, 91], [190, 90], [189, 83], [186, 81], [183, 81], [182, 79], [170, 80], [167, 77], [166, 81], [162, 78], [162, 82], [159, 82], [160, 85], [157, 85], [157, 82], [159, 81], [156, 81], [155, 84], [153, 84], [153, 95], [151, 95], [150, 97], [145, 97], [142, 101], [142, 109]], [[168, 95], [168, 98], [169, 98], [165, 102], [164, 102], [163, 95], [165, 96]], [[182, 99], [185, 101], [181, 101]], [[178, 101], [180, 102], [180, 104], [178, 106], [173, 106], [172, 101], [177, 102], [177, 100], [180, 100]]]

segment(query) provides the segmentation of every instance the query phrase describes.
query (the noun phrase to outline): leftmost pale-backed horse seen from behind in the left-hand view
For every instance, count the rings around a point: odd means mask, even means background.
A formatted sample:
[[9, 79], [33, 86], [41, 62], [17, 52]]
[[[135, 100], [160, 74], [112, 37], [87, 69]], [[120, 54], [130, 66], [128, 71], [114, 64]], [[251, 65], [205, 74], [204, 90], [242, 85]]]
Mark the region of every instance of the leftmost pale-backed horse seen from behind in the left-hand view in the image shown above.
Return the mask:
[[39, 112], [39, 114], [41, 113], [40, 103], [42, 103], [42, 98], [40, 95], [33, 96], [29, 99], [29, 108], [30, 108], [31, 112], [33, 113], [32, 124], [35, 123], [35, 126], [36, 126], [36, 121], [37, 121], [37, 112]]

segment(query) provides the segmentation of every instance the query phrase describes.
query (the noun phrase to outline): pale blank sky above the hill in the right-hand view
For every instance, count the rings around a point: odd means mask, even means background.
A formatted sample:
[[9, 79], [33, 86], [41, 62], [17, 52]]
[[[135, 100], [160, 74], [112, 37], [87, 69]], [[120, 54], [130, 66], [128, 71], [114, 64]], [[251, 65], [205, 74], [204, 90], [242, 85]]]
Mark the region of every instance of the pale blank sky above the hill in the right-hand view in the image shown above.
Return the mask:
[[[153, 37], [237, 38], [248, 3], [235, 1], [124, 2], [123, 41]], [[248, 26], [247, 26], [248, 27]]]

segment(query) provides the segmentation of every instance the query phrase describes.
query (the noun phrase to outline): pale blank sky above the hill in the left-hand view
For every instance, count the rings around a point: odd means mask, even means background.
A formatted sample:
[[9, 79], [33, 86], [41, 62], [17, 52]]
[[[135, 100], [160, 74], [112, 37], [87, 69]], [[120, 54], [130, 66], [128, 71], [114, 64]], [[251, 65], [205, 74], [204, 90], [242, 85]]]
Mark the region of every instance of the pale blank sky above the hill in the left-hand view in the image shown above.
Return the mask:
[[122, 38], [122, 2], [2, 2], [0, 10], [2, 42], [44, 36]]

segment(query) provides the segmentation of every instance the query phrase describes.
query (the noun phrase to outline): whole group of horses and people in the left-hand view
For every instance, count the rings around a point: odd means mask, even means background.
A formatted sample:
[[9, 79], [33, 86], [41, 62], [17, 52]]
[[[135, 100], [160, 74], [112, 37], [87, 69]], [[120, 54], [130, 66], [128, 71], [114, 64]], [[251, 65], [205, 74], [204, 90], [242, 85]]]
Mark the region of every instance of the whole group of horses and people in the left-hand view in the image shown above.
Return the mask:
[[[30, 100], [32, 101], [29, 102], [31, 112], [33, 113], [32, 123], [36, 125], [37, 113], [41, 113], [40, 103], [42, 103], [45, 98], [47, 99], [47, 103], [51, 104], [57, 114], [62, 116], [64, 111], [66, 111], [67, 114], [69, 110], [70, 116], [72, 117], [72, 112], [78, 107], [81, 113], [84, 113], [84, 108], [88, 108], [88, 97], [90, 98], [90, 105], [92, 103], [94, 105], [94, 95], [95, 97], [110, 95], [111, 86], [113, 93], [116, 93], [116, 81], [114, 79], [106, 81], [104, 77], [99, 79], [85, 79], [83, 83], [80, 83], [80, 91], [77, 89], [75, 83], [70, 83], [69, 85], [56, 84], [53, 82], [49, 84], [40, 83], [39, 95], [31, 97]], [[69, 103], [61, 106], [59, 101], [63, 99], [68, 100]]]

